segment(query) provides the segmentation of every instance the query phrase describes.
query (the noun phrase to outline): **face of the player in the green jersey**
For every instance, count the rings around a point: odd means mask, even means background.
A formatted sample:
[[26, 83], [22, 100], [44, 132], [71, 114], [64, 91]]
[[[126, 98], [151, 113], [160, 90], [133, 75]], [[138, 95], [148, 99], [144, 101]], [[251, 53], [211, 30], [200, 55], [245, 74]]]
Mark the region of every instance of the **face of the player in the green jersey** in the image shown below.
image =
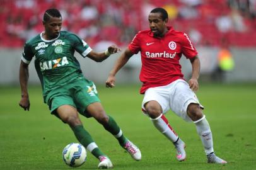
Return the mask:
[[51, 17], [49, 21], [44, 21], [45, 34], [50, 39], [59, 36], [62, 26], [62, 18]]

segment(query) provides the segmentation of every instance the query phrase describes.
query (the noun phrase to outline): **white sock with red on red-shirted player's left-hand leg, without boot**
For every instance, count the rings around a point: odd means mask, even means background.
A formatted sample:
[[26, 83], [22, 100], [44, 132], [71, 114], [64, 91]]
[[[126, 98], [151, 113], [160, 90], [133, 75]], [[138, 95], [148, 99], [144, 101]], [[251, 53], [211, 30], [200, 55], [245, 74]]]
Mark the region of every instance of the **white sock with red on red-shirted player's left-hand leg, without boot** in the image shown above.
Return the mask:
[[163, 135], [165, 135], [172, 142], [178, 140], [178, 135], [172, 130], [172, 127], [169, 125], [168, 120], [165, 118], [165, 115], [161, 114], [157, 118], [150, 118], [153, 122], [154, 127], [156, 127]]

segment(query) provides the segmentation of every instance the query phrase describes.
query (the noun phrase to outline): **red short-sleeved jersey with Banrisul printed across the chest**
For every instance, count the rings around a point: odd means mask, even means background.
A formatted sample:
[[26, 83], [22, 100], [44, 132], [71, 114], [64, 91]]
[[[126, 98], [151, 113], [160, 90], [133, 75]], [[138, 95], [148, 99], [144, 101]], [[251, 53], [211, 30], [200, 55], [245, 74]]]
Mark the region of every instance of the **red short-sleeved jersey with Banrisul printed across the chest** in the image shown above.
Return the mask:
[[151, 30], [139, 31], [128, 46], [133, 54], [141, 52], [141, 94], [148, 88], [165, 86], [183, 79], [180, 65], [182, 54], [187, 59], [197, 55], [187, 34], [175, 31], [172, 27], [167, 28], [164, 37], [154, 37]]

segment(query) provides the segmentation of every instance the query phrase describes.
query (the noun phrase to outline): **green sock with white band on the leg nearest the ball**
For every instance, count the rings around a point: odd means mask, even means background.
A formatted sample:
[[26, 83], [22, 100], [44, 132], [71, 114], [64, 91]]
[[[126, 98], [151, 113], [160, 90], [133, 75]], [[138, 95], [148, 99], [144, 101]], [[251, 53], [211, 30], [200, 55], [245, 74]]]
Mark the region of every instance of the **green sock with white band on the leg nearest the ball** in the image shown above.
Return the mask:
[[90, 133], [88, 133], [83, 125], [78, 125], [76, 127], [72, 127], [72, 130], [74, 132], [74, 135], [76, 135], [76, 139], [84, 145], [84, 147], [93, 154], [97, 159], [99, 159], [99, 156], [106, 156], [103, 154], [103, 152], [98, 148], [98, 146], [93, 141]]

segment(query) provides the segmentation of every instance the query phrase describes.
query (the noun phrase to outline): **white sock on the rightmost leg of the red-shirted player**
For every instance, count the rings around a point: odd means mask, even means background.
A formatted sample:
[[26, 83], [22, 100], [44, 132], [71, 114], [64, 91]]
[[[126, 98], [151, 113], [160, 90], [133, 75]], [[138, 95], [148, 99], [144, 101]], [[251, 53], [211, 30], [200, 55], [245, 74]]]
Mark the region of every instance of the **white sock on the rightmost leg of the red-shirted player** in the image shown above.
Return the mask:
[[204, 152], [206, 152], [206, 155], [211, 154], [211, 152], [214, 152], [212, 132], [210, 125], [206, 120], [206, 116], [204, 115], [201, 119], [195, 121], [194, 123], [197, 128], [197, 133], [202, 140], [202, 145], [204, 145]]

